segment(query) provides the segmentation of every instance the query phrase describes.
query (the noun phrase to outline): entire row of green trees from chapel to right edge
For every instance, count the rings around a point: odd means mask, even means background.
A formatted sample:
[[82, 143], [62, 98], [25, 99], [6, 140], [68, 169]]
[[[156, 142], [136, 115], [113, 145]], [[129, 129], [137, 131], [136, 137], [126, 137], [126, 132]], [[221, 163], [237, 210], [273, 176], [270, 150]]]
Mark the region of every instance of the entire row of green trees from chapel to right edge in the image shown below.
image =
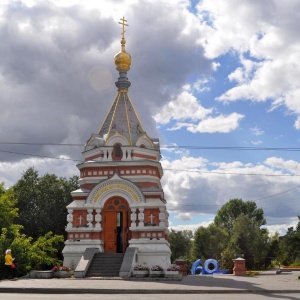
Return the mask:
[[[218, 211], [214, 223], [199, 227], [194, 240], [183, 232], [171, 231], [172, 261], [185, 258], [192, 264], [196, 259], [214, 258], [222, 269], [233, 269], [237, 256], [246, 259], [248, 270], [265, 269], [279, 262], [281, 265], [300, 265], [300, 216], [296, 228], [286, 235], [269, 237], [264, 212], [254, 201], [231, 199]], [[190, 251], [190, 249], [192, 249]]]

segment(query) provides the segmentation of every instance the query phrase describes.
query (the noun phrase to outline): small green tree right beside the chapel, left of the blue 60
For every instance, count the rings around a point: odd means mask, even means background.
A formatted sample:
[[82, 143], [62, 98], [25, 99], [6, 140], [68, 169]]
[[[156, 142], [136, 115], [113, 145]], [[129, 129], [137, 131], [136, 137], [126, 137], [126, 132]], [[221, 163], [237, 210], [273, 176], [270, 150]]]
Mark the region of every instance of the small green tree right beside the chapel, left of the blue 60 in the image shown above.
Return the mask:
[[175, 231], [171, 229], [169, 243], [171, 248], [171, 261], [177, 258], [190, 256], [193, 232], [191, 230]]

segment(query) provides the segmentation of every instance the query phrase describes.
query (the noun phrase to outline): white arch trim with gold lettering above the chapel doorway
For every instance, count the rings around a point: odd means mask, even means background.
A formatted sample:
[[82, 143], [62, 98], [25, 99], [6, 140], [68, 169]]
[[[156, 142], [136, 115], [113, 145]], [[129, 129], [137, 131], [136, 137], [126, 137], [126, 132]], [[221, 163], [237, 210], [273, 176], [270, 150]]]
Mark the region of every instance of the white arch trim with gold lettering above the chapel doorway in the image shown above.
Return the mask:
[[145, 197], [141, 190], [115, 174], [112, 178], [96, 185], [86, 200], [86, 206], [103, 208], [107, 199], [119, 196], [127, 200], [129, 206], [145, 203]]

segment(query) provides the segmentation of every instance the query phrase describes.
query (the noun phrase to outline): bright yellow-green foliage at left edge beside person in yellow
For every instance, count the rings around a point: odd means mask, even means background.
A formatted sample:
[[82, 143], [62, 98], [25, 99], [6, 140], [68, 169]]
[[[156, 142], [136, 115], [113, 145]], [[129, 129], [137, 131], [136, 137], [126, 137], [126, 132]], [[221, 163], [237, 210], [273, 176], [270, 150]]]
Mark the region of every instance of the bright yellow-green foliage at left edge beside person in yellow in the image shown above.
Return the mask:
[[[18, 219], [17, 204], [14, 188], [5, 190], [4, 184], [0, 184], [1, 264], [4, 264], [6, 249], [11, 249], [15, 257], [17, 276], [23, 276], [32, 269], [47, 269], [61, 264], [57, 254], [63, 244], [63, 236], [47, 232], [35, 240], [21, 233], [23, 226], [15, 223]], [[0, 279], [3, 277], [4, 268], [0, 268]]]

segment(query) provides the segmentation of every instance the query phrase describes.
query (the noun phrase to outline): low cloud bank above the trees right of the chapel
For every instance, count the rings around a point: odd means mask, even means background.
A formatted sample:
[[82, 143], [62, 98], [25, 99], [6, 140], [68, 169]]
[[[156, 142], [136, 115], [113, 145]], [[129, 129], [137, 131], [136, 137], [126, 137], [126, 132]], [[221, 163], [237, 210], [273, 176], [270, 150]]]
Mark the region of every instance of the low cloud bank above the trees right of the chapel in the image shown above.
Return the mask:
[[162, 164], [162, 184], [170, 211], [216, 214], [228, 200], [241, 198], [256, 201], [267, 221], [281, 218], [286, 224], [284, 220], [297, 217], [298, 177], [289, 175], [300, 174], [298, 162], [270, 157], [257, 164], [210, 163], [201, 157], [182, 157]]

